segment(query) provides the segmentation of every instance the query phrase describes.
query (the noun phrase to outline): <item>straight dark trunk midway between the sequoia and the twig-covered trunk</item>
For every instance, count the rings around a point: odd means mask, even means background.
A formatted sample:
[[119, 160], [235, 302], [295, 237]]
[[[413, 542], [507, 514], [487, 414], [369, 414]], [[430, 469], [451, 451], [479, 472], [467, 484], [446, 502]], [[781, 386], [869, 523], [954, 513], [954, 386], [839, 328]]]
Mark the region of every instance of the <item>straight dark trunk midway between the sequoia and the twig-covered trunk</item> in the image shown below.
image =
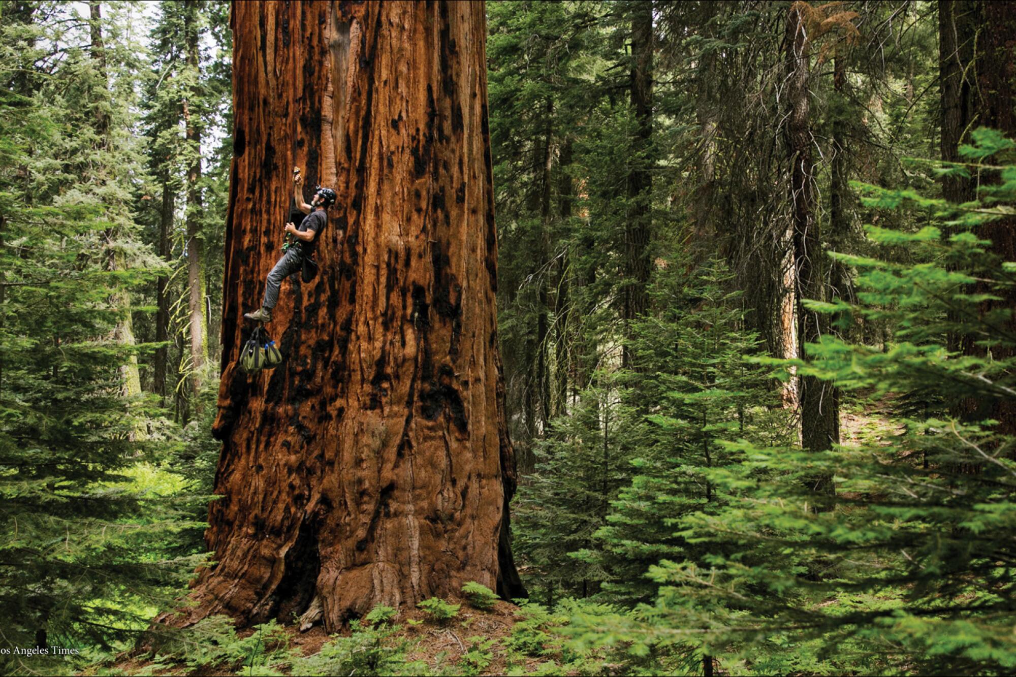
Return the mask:
[[[650, 172], [649, 145], [652, 140], [652, 2], [639, 2], [632, 10], [631, 103], [638, 123], [632, 166], [628, 173], [629, 217], [625, 227], [624, 319], [633, 320], [646, 309], [649, 284]], [[622, 362], [628, 367], [631, 355], [626, 347]]]

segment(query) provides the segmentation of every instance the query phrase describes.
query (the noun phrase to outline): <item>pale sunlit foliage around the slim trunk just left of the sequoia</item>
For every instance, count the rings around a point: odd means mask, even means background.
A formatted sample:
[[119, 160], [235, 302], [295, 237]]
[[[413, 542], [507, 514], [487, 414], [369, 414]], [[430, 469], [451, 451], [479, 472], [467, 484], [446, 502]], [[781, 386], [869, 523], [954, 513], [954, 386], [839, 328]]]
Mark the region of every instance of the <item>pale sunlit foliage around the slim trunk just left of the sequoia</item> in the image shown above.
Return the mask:
[[[193, 250], [188, 244], [196, 238], [199, 246], [201, 294], [207, 295], [213, 308], [220, 308], [220, 286], [207, 283], [221, 279], [225, 237], [221, 224], [229, 200], [232, 158], [229, 3], [160, 2], [152, 3], [152, 8], [156, 11], [148, 35], [151, 58], [148, 68], [136, 76], [142, 90], [142, 131], [150, 175], [144, 187], [147, 194], [138, 200], [137, 210], [147, 241], [157, 248], [172, 270], [162, 278], [160, 285], [152, 284], [144, 290], [150, 303], [164, 309], [162, 330], [168, 340], [158, 352], [150, 355], [145, 375], [151, 378], [153, 390], [171, 397], [177, 419], [201, 423], [200, 431], [207, 439], [203, 421], [195, 421], [199, 418], [196, 414], [206, 411], [206, 406], [202, 410], [203, 396], [189, 387], [197, 370], [191, 364], [190, 354], [188, 266]], [[197, 42], [197, 63], [188, 54], [188, 42], [193, 39]], [[188, 127], [200, 135], [200, 147], [197, 140], [187, 138]], [[212, 139], [215, 142], [210, 142]], [[188, 171], [195, 161], [200, 161], [201, 174], [192, 185]], [[158, 314], [138, 318], [139, 335], [161, 340], [156, 326]], [[207, 353], [212, 359], [206, 361], [201, 371], [203, 380], [214, 381], [217, 313], [209, 315]], [[155, 382], [154, 372], [160, 363], [167, 371], [165, 392], [160, 391]], [[197, 434], [188, 432], [192, 436]]]

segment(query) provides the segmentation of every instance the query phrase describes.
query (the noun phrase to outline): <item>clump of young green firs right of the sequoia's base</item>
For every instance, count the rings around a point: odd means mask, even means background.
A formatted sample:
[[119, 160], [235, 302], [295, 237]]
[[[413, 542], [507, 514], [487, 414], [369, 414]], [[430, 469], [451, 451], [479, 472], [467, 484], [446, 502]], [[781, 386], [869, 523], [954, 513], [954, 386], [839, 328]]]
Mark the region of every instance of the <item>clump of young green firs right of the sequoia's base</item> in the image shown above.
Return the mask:
[[548, 599], [560, 589], [651, 600], [651, 564], [704, 554], [675, 535], [675, 524], [720, 508], [705, 472], [734, 463], [722, 442], [770, 443], [789, 432], [768, 370], [746, 361], [760, 346], [743, 328], [740, 295], [724, 291], [729, 273], [716, 261], [684, 269], [676, 254], [654, 281], [665, 310], [632, 324], [639, 367], [584, 390], [536, 447], [535, 473], [519, 491], [515, 548], [538, 567]]

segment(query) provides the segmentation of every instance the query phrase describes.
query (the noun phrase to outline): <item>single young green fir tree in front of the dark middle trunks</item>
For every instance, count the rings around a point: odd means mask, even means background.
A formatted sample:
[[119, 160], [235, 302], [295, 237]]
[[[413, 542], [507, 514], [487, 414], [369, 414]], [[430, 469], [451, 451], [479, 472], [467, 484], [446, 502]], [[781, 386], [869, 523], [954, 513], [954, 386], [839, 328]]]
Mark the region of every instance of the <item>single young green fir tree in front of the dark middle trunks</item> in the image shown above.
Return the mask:
[[710, 554], [675, 526], [686, 514], [722, 509], [708, 474], [737, 463], [724, 441], [786, 438], [788, 421], [772, 379], [746, 360], [761, 347], [744, 328], [741, 295], [724, 291], [729, 279], [716, 260], [690, 279], [664, 271], [656, 289], [664, 310], [633, 327], [639, 369], [626, 374], [633, 413], [626, 427], [637, 449], [630, 461], [635, 476], [594, 534], [597, 547], [580, 553], [610, 572], [602, 599], [648, 602], [657, 588], [645, 576], [650, 565]]

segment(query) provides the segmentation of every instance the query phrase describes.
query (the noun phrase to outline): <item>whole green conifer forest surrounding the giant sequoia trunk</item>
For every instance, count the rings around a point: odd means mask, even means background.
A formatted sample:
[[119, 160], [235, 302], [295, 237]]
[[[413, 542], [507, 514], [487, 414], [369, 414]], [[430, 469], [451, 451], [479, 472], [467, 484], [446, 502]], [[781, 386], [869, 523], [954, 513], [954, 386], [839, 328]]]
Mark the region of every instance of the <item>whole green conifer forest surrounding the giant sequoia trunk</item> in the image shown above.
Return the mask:
[[[130, 648], [206, 557], [229, 11], [0, 1], [3, 674]], [[505, 670], [1011, 674], [1016, 3], [487, 11]], [[489, 669], [387, 620], [162, 656]]]

